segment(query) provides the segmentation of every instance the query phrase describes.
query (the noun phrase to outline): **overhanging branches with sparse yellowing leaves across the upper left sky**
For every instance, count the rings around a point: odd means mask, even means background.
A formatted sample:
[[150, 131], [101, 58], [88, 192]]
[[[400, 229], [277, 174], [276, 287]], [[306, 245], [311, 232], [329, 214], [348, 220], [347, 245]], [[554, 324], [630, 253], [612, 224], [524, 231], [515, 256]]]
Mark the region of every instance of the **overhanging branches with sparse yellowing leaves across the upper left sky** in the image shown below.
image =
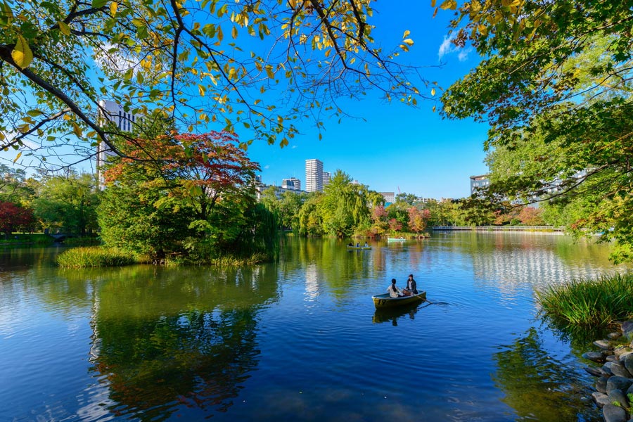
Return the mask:
[[124, 155], [116, 136], [136, 137], [100, 121], [104, 97], [186, 132], [214, 124], [281, 146], [298, 119], [321, 128], [344, 115], [339, 96], [373, 89], [416, 105], [428, 81], [396, 61], [414, 41], [405, 31], [383, 49], [373, 13], [370, 0], [3, 0], [0, 148], [86, 157], [105, 143]]

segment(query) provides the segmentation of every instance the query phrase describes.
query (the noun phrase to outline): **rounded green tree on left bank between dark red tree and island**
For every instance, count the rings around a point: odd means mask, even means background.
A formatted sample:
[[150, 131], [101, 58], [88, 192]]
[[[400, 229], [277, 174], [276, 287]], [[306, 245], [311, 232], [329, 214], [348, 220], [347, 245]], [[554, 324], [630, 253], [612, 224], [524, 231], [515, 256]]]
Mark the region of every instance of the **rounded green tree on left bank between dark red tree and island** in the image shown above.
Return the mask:
[[41, 226], [66, 234], [87, 236], [98, 230], [99, 194], [92, 174], [70, 172], [40, 181], [34, 212]]

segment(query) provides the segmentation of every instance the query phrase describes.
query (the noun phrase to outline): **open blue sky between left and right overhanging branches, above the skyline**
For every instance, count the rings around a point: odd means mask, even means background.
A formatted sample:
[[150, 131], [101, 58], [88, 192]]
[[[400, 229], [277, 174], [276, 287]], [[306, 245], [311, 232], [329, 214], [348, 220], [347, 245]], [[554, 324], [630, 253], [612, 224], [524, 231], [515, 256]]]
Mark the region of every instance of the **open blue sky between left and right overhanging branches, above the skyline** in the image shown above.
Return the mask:
[[[440, 10], [433, 18], [430, 1], [377, 1], [373, 7], [378, 12], [371, 22], [376, 25], [376, 41], [390, 50], [404, 30], [411, 31], [415, 44], [400, 57], [414, 65], [442, 63], [441, 68], [423, 70], [426, 79], [440, 87], [449, 87], [477, 65], [475, 51], [457, 51], [446, 42], [452, 12]], [[318, 158], [324, 171], [343, 170], [374, 191], [399, 190], [428, 198], [470, 194], [468, 178], [487, 172], [486, 124], [442, 120], [433, 113], [431, 102], [418, 103], [414, 109], [369, 97], [347, 105], [347, 112], [362, 119], [326, 121], [321, 141], [306, 123], [300, 126], [302, 135], [286, 148], [253, 143], [248, 155], [260, 162], [264, 183], [279, 186], [282, 179], [297, 177], [305, 186], [305, 160]]]

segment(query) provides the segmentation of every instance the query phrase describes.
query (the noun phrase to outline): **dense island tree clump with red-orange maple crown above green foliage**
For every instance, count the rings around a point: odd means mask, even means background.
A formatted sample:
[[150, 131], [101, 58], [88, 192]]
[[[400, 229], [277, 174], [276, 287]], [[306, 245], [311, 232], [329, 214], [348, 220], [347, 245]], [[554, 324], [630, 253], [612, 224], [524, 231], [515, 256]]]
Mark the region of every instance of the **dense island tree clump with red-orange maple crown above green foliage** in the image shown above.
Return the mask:
[[163, 259], [274, 255], [276, 218], [255, 203], [257, 163], [226, 132], [155, 136], [120, 146], [98, 209], [106, 245]]

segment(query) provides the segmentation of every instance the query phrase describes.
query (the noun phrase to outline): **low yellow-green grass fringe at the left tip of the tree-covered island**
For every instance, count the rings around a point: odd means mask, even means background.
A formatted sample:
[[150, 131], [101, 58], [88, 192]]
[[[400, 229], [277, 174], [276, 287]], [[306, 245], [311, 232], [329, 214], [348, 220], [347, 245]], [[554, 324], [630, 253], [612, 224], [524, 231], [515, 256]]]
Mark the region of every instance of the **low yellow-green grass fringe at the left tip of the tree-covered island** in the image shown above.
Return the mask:
[[116, 248], [72, 248], [60, 253], [57, 263], [60, 267], [121, 267], [122, 265], [137, 264], [141, 258], [130, 252]]

